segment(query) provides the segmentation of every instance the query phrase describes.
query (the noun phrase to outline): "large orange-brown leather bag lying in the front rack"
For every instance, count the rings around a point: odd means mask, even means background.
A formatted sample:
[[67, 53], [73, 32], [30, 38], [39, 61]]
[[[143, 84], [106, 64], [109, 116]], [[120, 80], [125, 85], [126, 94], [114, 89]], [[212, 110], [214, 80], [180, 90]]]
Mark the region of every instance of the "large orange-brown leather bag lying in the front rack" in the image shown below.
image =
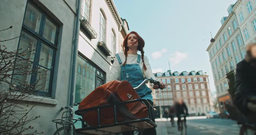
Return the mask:
[[[134, 100], [140, 98], [127, 80], [112, 80], [111, 82], [97, 87], [79, 104], [78, 109], [101, 106], [119, 101]], [[141, 102], [120, 104], [117, 106], [118, 122], [148, 117], [148, 107]], [[82, 114], [82, 119], [89, 126], [98, 125], [98, 110], [90, 110]], [[100, 125], [115, 122], [114, 106], [100, 109]]]

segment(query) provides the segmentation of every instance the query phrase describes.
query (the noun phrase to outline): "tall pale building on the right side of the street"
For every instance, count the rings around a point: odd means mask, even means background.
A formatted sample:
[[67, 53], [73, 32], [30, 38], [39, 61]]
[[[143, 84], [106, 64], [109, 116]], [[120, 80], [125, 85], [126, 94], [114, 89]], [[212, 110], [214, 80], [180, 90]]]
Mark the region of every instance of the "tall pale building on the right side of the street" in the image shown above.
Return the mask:
[[[253, 6], [254, 5], [254, 6]], [[228, 7], [228, 16], [221, 19], [222, 26], [207, 48], [213, 71], [220, 111], [224, 104], [232, 103], [226, 74], [246, 55], [246, 45], [256, 38], [256, 2], [237, 0]]]

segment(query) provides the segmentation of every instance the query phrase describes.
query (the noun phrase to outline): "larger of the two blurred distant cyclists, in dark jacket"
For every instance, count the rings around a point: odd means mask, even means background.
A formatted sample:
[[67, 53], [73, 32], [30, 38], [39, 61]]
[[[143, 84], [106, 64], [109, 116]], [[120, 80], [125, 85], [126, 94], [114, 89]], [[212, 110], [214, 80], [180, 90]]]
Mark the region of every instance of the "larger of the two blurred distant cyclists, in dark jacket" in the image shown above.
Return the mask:
[[[178, 118], [178, 121], [177, 121], [178, 131], [180, 131], [181, 130], [181, 128], [180, 128], [181, 114], [188, 115], [187, 105], [183, 102], [182, 99], [179, 99], [178, 102], [176, 102], [174, 106], [175, 106], [176, 116]], [[184, 116], [184, 122], [186, 123], [186, 116]]]

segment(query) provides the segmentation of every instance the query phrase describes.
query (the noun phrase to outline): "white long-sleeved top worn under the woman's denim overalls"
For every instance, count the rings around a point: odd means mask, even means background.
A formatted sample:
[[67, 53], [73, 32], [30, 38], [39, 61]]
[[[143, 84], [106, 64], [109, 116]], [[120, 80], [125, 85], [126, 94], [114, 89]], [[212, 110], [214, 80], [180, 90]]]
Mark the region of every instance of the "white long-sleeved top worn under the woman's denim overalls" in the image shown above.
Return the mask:
[[[119, 52], [118, 53], [121, 61], [122, 61], [122, 64], [125, 62], [125, 53], [124, 52]], [[140, 67], [141, 67], [141, 71], [142, 71], [142, 74], [143, 74], [143, 77], [144, 78], [153, 78], [154, 80], [156, 80], [154, 74], [152, 73], [152, 69], [151, 69], [151, 66], [148, 62], [148, 58], [147, 56], [144, 55], [144, 64], [146, 65], [147, 67], [147, 70], [144, 71], [143, 69], [143, 62], [142, 62], [142, 59], [140, 61], [140, 63], [137, 62], [138, 61], [138, 55], [133, 55], [133, 54], [128, 54], [127, 55], [127, 61], [126, 61], [126, 64], [139, 64]], [[110, 74], [109, 74], [109, 77], [107, 79], [107, 83], [112, 81], [112, 80], [121, 80], [121, 66], [118, 62], [118, 59], [115, 57], [115, 61], [112, 65], [112, 68], [110, 70]], [[152, 85], [151, 85], [152, 86]]]

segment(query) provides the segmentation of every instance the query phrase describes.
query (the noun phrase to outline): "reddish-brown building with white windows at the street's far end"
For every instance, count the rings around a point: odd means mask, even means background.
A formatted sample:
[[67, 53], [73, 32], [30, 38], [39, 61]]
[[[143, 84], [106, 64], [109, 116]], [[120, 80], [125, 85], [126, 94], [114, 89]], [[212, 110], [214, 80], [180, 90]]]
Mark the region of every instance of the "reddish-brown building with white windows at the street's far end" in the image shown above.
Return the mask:
[[[203, 71], [183, 71], [164, 73], [154, 76], [166, 84], [164, 90], [153, 90], [154, 106], [161, 114], [174, 105], [176, 99], [183, 99], [190, 114], [198, 115], [213, 110], [208, 75]], [[160, 113], [158, 113], [160, 114]], [[158, 115], [159, 117], [159, 115]]]

